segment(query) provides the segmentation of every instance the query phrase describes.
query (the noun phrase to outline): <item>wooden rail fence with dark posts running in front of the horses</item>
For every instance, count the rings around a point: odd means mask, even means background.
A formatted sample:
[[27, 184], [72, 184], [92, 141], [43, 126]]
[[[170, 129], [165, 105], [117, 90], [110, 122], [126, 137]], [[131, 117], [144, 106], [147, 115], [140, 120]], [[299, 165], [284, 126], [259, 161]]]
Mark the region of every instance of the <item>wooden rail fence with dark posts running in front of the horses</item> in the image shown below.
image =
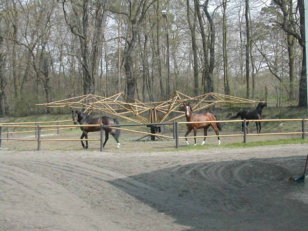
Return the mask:
[[[160, 137], [160, 138], [166, 138], [166, 139], [174, 139], [176, 141], [176, 148], [179, 148], [179, 140], [180, 139], [192, 139], [192, 138], [210, 138], [210, 137], [243, 137], [243, 143], [246, 143], [246, 137], [247, 136], [274, 136], [274, 135], [281, 135], [281, 134], [301, 134], [302, 139], [305, 139], [305, 121], [308, 119], [272, 119], [272, 120], [225, 120], [225, 121], [203, 121], [203, 122], [197, 122], [197, 123], [244, 123], [244, 131], [243, 134], [226, 134], [226, 135], [219, 135], [219, 136], [189, 136], [189, 137], [180, 137], [179, 136], [179, 125], [182, 124], [192, 124], [196, 122], [172, 122], [172, 123], [149, 123], [149, 124], [119, 124], [119, 125], [59, 125], [60, 122], [67, 122], [71, 120], [66, 121], [55, 121], [54, 123], [57, 123], [57, 125], [40, 125], [43, 123], [51, 123], [51, 122], [40, 122], [40, 124], [37, 124], [37, 122], [28, 122], [28, 123], [5, 123], [0, 125], [0, 149], [2, 140], [20, 140], [20, 141], [36, 141], [37, 142], [37, 150], [41, 149], [41, 142], [45, 141], [100, 141], [101, 142], [101, 151], [103, 151], [103, 137], [104, 133], [103, 130], [105, 127], [112, 127], [114, 129], [119, 129], [123, 131], [129, 131], [129, 132], [135, 132], [135, 133], [141, 133], [146, 134], [147, 136], [151, 137]], [[246, 123], [247, 122], [301, 122], [301, 131], [299, 132], [276, 132], [276, 133], [258, 133], [258, 134], [248, 134], [246, 130]], [[20, 125], [20, 124], [36, 124], [36, 125]], [[173, 137], [171, 136], [165, 136], [162, 134], [156, 134], [156, 133], [149, 133], [149, 132], [143, 132], [143, 131], [137, 131], [137, 130], [131, 130], [126, 129], [123, 127], [126, 126], [164, 126], [164, 125], [173, 125]], [[51, 130], [57, 130], [57, 134], [59, 134], [60, 129], [68, 129], [68, 128], [74, 128], [74, 127], [101, 127], [101, 136], [100, 139], [41, 139], [41, 132], [42, 131], [51, 131]], [[18, 128], [35, 128], [35, 130], [31, 131], [17, 131], [17, 132], [2, 132], [2, 128], [6, 127], [7, 129], [10, 127], [18, 127]], [[55, 127], [56, 129], [50, 129]], [[45, 128], [45, 129], [44, 129]], [[46, 129], [49, 128], [49, 129]], [[35, 132], [35, 137], [37, 139], [14, 139], [14, 138], [2, 138], [3, 134], [9, 134], [9, 133], [22, 133], [22, 132]]]

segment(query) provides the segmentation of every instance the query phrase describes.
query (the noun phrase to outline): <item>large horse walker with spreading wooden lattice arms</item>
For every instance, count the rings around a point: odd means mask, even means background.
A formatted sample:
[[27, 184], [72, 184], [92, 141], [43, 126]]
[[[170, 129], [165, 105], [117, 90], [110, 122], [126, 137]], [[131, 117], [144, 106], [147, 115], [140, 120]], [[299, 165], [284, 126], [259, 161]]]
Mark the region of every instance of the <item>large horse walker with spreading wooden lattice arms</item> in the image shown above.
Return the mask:
[[[197, 97], [189, 97], [179, 91], [175, 91], [168, 97], [169, 100], [161, 102], [140, 102], [139, 100], [132, 99], [124, 93], [117, 93], [110, 97], [102, 97], [94, 94], [80, 95], [79, 97], [73, 97], [65, 100], [59, 100], [50, 103], [36, 104], [44, 105], [47, 107], [71, 107], [71, 108], [83, 108], [86, 110], [100, 110], [103, 113], [108, 113], [120, 117], [125, 120], [135, 122], [137, 124], [147, 124], [150, 127], [150, 134], [146, 137], [150, 137], [151, 140], [155, 140], [156, 137], [161, 139], [155, 134], [157, 132], [164, 132], [164, 126], [161, 123], [170, 123], [176, 121], [185, 116], [183, 111], [179, 111], [176, 108], [183, 105], [184, 102], [194, 101], [196, 102], [194, 108], [195, 112], [198, 112], [207, 107], [213, 106], [218, 103], [257, 103], [258, 101], [247, 100], [230, 95], [224, 95], [219, 93], [206, 93]], [[201, 105], [203, 104], [203, 105]], [[168, 118], [171, 112], [180, 112], [181, 115]], [[157, 114], [159, 113], [159, 115]], [[129, 117], [128, 114], [134, 115]], [[146, 114], [146, 116], [144, 116]], [[148, 117], [148, 118], [147, 118]], [[213, 123], [214, 124], [214, 123]], [[219, 129], [219, 127], [218, 127]], [[117, 129], [118, 130], [118, 129]], [[144, 137], [143, 137], [144, 138]], [[142, 138], [141, 138], [142, 139]]]

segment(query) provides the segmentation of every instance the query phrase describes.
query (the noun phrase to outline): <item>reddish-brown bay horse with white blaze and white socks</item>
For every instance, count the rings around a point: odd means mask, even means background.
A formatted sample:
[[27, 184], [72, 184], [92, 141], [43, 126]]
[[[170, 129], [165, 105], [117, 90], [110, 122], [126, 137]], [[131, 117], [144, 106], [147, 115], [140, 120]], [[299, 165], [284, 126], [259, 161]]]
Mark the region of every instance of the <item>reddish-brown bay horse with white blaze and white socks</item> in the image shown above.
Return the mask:
[[[184, 103], [184, 108], [185, 108], [185, 116], [186, 116], [187, 122], [217, 121], [218, 120], [216, 115], [211, 114], [209, 112], [206, 112], [206, 113], [203, 113], [203, 114], [194, 113], [192, 111], [189, 103], [187, 103], [187, 104]], [[204, 136], [207, 136], [207, 129], [208, 129], [209, 126], [213, 127], [217, 136], [219, 136], [218, 130], [221, 131], [220, 123], [194, 123], [194, 124], [186, 124], [186, 125], [187, 125], [188, 129], [187, 129], [187, 132], [185, 134], [185, 137], [188, 136], [188, 134], [191, 130], [194, 130], [194, 136], [196, 137], [197, 129], [199, 129], [199, 128], [203, 128]], [[221, 141], [220, 141], [219, 137], [217, 137], [217, 138], [218, 138], [218, 144], [220, 144]], [[195, 145], [197, 145], [196, 138], [194, 138], [194, 139], [195, 139]], [[205, 144], [205, 139], [206, 138], [204, 137], [201, 145]], [[185, 140], [186, 140], [186, 143], [189, 145], [187, 138], [185, 138]]]

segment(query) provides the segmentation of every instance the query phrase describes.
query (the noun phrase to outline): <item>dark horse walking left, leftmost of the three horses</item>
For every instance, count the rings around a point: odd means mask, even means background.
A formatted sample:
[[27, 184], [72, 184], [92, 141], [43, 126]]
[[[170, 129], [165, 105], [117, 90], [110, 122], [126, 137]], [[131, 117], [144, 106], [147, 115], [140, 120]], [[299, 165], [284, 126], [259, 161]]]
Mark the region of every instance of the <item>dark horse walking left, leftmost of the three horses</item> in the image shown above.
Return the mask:
[[[100, 124], [104, 124], [104, 125], [114, 125], [114, 124], [119, 124], [117, 119], [113, 119], [110, 117], [99, 117], [99, 118], [92, 118], [90, 115], [87, 115], [81, 111], [73, 111], [72, 110], [72, 117], [73, 117], [73, 122], [74, 124], [98, 124], [99, 126], [95, 126], [95, 127], [80, 127], [80, 129], [82, 130], [82, 135], [80, 137], [80, 139], [83, 139], [85, 137], [85, 139], [88, 139], [88, 132], [91, 131], [100, 131], [101, 130], [101, 126]], [[104, 127], [103, 128], [105, 130], [105, 142], [103, 147], [105, 147], [105, 144], [107, 142], [107, 140], [109, 139], [109, 133], [112, 134], [112, 136], [114, 137], [114, 139], [117, 141], [118, 144], [118, 148], [120, 148], [120, 142], [119, 142], [119, 136], [120, 136], [120, 130], [119, 129], [115, 129], [115, 132], [112, 131], [111, 127]], [[86, 146], [84, 145], [84, 143], [81, 141], [81, 144], [83, 146], [84, 149], [88, 148], [88, 141], [86, 140]]]

